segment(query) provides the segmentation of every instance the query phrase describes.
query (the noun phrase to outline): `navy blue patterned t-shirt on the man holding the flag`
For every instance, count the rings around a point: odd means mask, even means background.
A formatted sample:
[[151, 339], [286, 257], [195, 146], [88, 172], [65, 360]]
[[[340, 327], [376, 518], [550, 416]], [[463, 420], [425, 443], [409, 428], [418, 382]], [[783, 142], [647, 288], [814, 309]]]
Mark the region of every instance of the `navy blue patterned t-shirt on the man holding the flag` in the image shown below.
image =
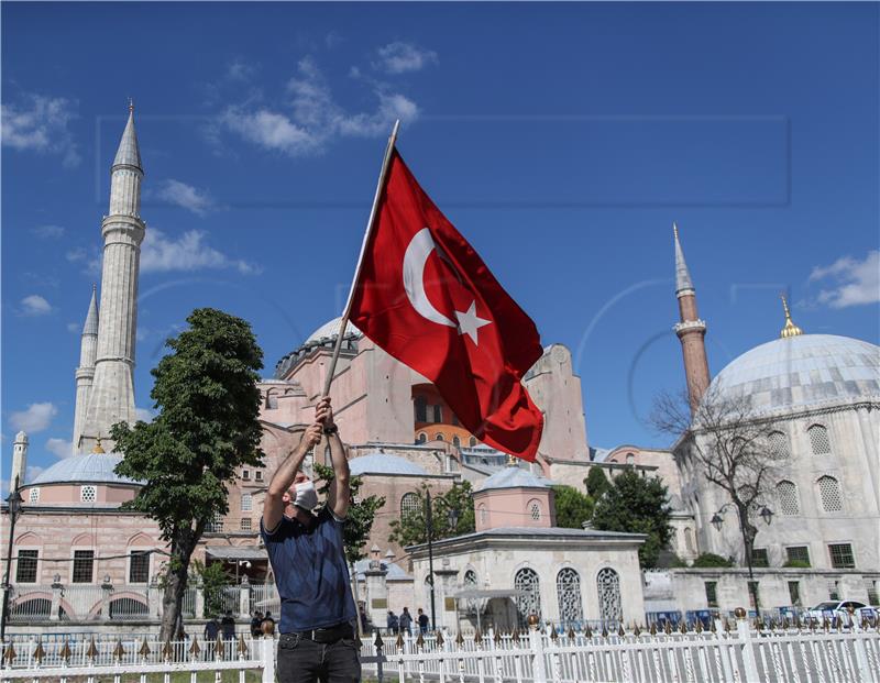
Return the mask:
[[282, 601], [282, 634], [353, 621], [342, 521], [324, 507], [307, 528], [282, 517], [273, 533], [260, 520], [275, 585]]

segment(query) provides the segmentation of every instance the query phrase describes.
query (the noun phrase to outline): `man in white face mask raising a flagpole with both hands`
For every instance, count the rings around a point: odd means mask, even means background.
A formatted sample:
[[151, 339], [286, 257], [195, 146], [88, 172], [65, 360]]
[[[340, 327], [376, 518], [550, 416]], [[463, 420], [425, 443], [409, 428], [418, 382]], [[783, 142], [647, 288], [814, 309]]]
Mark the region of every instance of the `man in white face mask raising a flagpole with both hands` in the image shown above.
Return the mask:
[[[334, 477], [318, 511], [318, 494], [299, 467], [329, 445]], [[330, 398], [315, 408], [306, 429], [275, 472], [266, 492], [261, 533], [282, 602], [280, 683], [358, 683], [356, 619], [345, 562], [342, 522], [349, 511], [349, 463], [333, 422]]]

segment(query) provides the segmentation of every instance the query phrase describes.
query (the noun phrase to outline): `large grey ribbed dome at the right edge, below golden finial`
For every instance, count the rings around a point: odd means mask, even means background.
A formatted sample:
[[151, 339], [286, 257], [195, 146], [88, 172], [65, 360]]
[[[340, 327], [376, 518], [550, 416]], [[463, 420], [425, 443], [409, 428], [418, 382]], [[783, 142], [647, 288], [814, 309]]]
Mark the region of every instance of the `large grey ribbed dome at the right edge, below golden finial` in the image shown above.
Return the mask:
[[732, 397], [751, 396], [757, 414], [880, 398], [880, 346], [835, 334], [777, 339], [747, 351], [713, 379]]

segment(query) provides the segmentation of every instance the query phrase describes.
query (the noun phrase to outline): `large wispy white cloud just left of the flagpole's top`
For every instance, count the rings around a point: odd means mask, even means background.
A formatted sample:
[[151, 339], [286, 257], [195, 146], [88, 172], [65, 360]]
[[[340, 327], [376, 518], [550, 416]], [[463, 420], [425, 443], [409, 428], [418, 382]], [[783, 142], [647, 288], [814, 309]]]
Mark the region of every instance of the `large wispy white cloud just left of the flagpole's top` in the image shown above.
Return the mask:
[[286, 111], [233, 106], [220, 115], [219, 123], [266, 150], [302, 156], [322, 152], [337, 137], [386, 134], [396, 119], [410, 122], [419, 115], [419, 108], [413, 100], [383, 84], [374, 86], [377, 104], [373, 111], [346, 111], [333, 98], [311, 57], [299, 62], [296, 76], [287, 82], [287, 92], [289, 109]]

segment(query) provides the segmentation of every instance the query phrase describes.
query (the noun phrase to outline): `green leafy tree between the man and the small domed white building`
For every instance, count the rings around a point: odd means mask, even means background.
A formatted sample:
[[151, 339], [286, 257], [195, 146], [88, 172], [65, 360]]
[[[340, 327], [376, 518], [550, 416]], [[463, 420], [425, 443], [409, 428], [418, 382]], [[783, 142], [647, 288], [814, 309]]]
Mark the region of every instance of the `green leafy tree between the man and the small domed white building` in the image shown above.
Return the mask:
[[[428, 542], [428, 528], [425, 520], [428, 485], [415, 492], [419, 505], [402, 519], [391, 522], [391, 541], [400, 546], [417, 546]], [[450, 526], [450, 510], [458, 513], [454, 527]], [[474, 499], [470, 482], [457, 483], [452, 488], [441, 495], [431, 496], [431, 511], [433, 521], [433, 540], [471, 533], [475, 529]]]

